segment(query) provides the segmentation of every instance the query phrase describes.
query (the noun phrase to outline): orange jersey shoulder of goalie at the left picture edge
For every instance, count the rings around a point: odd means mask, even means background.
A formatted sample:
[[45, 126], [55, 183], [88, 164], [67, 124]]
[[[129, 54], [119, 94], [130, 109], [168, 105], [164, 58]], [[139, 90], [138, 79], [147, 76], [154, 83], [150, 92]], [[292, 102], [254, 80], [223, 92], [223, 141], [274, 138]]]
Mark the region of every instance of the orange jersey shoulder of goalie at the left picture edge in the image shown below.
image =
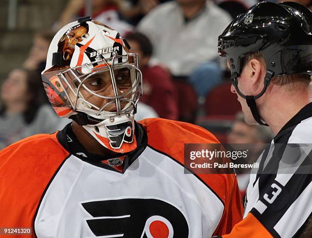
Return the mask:
[[0, 227], [32, 227], [45, 188], [69, 155], [56, 135], [31, 136], [0, 151]]

